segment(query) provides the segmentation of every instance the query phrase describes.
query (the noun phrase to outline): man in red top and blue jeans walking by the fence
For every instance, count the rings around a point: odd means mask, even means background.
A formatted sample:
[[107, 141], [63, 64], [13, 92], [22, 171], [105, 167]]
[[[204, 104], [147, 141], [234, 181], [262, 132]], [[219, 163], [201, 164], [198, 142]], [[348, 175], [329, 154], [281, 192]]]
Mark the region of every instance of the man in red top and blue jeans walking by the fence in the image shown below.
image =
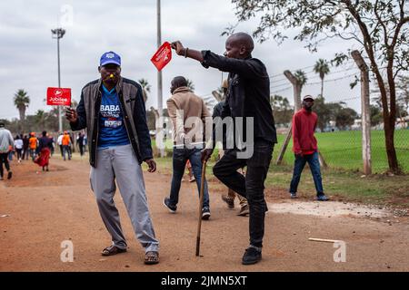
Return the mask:
[[326, 201], [324, 195], [323, 180], [321, 178], [320, 162], [314, 131], [318, 119], [313, 111], [314, 98], [306, 95], [303, 98], [303, 108], [297, 111], [293, 117], [293, 151], [295, 155], [293, 179], [290, 185], [291, 198], [297, 197], [298, 183], [305, 163], [308, 162], [314, 178], [316, 199]]

